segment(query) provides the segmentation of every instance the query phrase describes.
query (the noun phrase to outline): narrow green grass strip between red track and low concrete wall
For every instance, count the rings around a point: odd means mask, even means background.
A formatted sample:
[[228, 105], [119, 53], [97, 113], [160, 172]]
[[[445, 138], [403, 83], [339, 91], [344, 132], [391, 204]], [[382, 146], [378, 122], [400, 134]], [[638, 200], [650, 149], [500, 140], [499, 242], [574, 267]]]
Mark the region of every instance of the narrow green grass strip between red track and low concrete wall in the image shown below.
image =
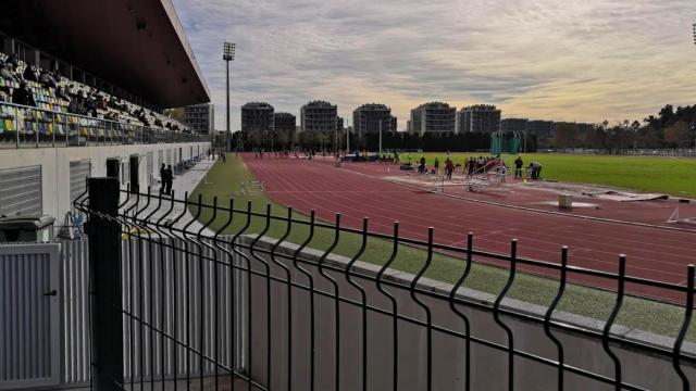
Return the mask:
[[[196, 191], [190, 195], [190, 200], [197, 201], [199, 194], [201, 194], [203, 203], [212, 204], [213, 197], [217, 197], [219, 204], [227, 206], [229, 198], [240, 190], [240, 184], [249, 179], [252, 179], [252, 175], [241, 161], [241, 157], [235, 159], [233, 154], [229, 154], [227, 163], [217, 162], [211, 168], [208, 174], [209, 184], [200, 184]], [[220, 202], [220, 200], [223, 201]], [[287, 209], [273, 203], [265, 195], [253, 195], [249, 199], [236, 195], [235, 206], [246, 209], [247, 200], [252, 201], [252, 210], [256, 212], [265, 212], [266, 205], [270, 204], [273, 214], [279, 216], [287, 215]], [[196, 214], [197, 207], [191, 207], [191, 212]], [[212, 211], [203, 209], [199, 220], [207, 223], [211, 217]], [[210, 228], [220, 229], [228, 217], [229, 216], [227, 214], [216, 216]], [[297, 213], [296, 217], [303, 219], [308, 218], [307, 216], [297, 215]], [[223, 234], [236, 234], [245, 223], [246, 216], [235, 216], [235, 218], [233, 218], [233, 224], [225, 229]], [[261, 232], [264, 227], [264, 218], [252, 218], [250, 227], [246, 234]], [[266, 236], [281, 238], [286, 229], [287, 225], [283, 222], [273, 222], [269, 226]], [[308, 232], [309, 229], [307, 226], [296, 225], [291, 227], [290, 235], [287, 240], [294, 243], [301, 243], [306, 240]], [[331, 245], [333, 240], [333, 229], [320, 228], [315, 230], [314, 239], [309, 245], [318, 250], [325, 250]], [[359, 235], [341, 234], [334, 253], [350, 257], [357, 253], [360, 244], [361, 237]], [[368, 241], [365, 252], [360, 260], [376, 265], [384, 264], [391, 254], [391, 249], [393, 245], [388, 240], [370, 239]], [[424, 261], [424, 251], [401, 245], [398, 250], [397, 261], [393, 264], [393, 268], [415, 274], [422, 267]], [[463, 266], [464, 262], [460, 258], [435, 254], [425, 277], [453, 283], [459, 279], [463, 270]], [[498, 294], [502, 289], [507, 277], [508, 272], [506, 269], [474, 263], [464, 287]], [[555, 297], [558, 286], [559, 283], [552, 279], [518, 274], [515, 282], [509, 292], [509, 297], [546, 306], [549, 305]], [[559, 310], [596, 319], [606, 319], [614, 304], [614, 294], [610, 292], [569, 285], [559, 305]], [[620, 313], [618, 323], [631, 328], [674, 337], [682, 324], [683, 316], [684, 310], [679, 306], [636, 298], [627, 298], [624, 301], [623, 310]], [[692, 327], [687, 338], [692, 341], [696, 341], [696, 328]]]

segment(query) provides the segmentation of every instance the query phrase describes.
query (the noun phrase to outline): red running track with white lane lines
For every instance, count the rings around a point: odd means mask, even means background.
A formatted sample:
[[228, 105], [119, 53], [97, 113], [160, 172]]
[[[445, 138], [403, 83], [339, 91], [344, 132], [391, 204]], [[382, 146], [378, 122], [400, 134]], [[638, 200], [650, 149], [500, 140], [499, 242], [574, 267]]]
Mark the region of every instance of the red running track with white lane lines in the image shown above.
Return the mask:
[[[328, 162], [306, 160], [257, 160], [245, 162], [269, 197], [281, 204], [331, 222], [341, 213], [343, 224], [391, 234], [394, 222], [405, 237], [425, 240], [434, 227], [435, 241], [464, 245], [467, 232], [474, 234], [477, 250], [508, 253], [518, 239], [519, 255], [559, 263], [561, 245], [569, 247], [569, 264], [618, 272], [619, 254], [626, 254], [626, 273], [634, 277], [684, 283], [686, 266], [696, 254], [696, 234], [588, 220], [544, 212], [514, 210], [419, 191], [364, 174], [336, 168]], [[569, 277], [604, 288], [607, 281]], [[627, 286], [645, 297], [682, 301], [663, 290]], [[673, 292], [672, 292], [673, 293]]]

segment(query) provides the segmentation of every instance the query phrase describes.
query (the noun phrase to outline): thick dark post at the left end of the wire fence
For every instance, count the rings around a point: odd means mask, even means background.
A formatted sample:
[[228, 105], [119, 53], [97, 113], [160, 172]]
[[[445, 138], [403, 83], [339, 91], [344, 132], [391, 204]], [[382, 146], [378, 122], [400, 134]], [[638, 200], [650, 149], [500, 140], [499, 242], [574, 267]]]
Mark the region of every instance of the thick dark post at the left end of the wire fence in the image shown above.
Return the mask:
[[119, 186], [116, 178], [89, 179], [92, 383], [99, 391], [123, 387], [121, 225], [99, 215], [117, 215]]

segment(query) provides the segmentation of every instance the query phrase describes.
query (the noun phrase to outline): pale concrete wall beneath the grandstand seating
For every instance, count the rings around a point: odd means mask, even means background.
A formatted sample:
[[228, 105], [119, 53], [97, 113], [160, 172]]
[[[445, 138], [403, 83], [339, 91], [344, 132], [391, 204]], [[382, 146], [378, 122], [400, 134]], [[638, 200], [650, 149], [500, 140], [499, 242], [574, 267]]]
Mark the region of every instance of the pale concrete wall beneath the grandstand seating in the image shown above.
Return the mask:
[[[74, 148], [32, 148], [0, 150], [0, 169], [41, 166], [41, 192], [44, 214], [55, 217], [62, 224], [65, 213], [71, 210], [70, 200], [70, 162], [90, 160], [91, 176], [107, 176], [107, 159], [120, 157], [128, 162], [130, 155], [140, 156], [139, 182], [141, 191], [148, 184], [147, 153], [154, 154], [154, 176], [159, 177], [158, 151], [173, 150], [172, 156], [190, 159], [200, 150], [201, 154], [210, 148], [209, 142], [167, 143], [167, 144], [132, 144]], [[166, 153], [164, 154], [166, 159]]]

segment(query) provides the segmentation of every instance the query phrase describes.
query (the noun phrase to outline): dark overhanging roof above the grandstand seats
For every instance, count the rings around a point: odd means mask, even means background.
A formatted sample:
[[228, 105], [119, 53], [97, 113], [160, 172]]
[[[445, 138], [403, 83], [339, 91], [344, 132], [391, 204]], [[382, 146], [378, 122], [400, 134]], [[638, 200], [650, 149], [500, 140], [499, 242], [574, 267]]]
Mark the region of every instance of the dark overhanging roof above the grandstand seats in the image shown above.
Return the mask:
[[210, 101], [171, 0], [16, 0], [0, 29], [162, 108]]

